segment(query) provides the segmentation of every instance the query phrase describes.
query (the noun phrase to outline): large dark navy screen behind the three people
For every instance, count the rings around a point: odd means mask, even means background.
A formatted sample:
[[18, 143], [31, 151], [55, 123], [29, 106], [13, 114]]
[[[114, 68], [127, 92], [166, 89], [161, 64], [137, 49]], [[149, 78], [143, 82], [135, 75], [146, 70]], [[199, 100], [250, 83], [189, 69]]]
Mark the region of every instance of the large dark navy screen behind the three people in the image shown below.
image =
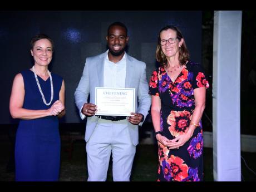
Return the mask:
[[166, 24], [181, 29], [191, 60], [201, 63], [201, 15], [201, 11], [1, 11], [0, 124], [17, 123], [9, 114], [12, 81], [18, 72], [33, 65], [29, 42], [37, 33], [46, 33], [55, 42], [49, 68], [65, 80], [66, 116], [60, 122], [79, 123], [82, 121], [73, 93], [86, 57], [106, 51], [109, 24], [116, 21], [126, 24], [130, 36], [128, 53], [146, 63], [149, 80], [156, 68], [157, 34]]

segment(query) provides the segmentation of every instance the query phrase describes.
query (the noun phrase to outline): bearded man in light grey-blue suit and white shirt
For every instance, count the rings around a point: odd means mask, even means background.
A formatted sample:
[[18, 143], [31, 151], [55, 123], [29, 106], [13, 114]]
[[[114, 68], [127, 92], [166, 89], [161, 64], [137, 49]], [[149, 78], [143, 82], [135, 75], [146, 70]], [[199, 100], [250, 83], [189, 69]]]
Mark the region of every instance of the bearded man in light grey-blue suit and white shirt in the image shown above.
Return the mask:
[[[125, 52], [129, 37], [123, 23], [112, 23], [106, 40], [109, 50], [86, 59], [75, 91], [81, 119], [87, 117], [88, 181], [106, 181], [111, 152], [113, 180], [130, 181], [136, 145], [139, 143], [138, 125], [144, 122], [151, 105], [146, 64]], [[135, 88], [135, 112], [127, 117], [95, 115], [95, 87]]]

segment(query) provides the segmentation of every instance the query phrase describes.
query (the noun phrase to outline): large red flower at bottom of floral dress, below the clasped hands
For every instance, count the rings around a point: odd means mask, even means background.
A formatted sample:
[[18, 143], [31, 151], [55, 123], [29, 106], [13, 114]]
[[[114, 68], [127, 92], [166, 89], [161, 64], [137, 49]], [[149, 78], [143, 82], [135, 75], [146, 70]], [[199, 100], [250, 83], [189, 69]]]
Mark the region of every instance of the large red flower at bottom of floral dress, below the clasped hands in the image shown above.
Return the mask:
[[184, 164], [184, 160], [178, 156], [171, 155], [168, 159], [171, 168], [171, 176], [174, 181], [181, 181], [188, 177], [188, 165]]

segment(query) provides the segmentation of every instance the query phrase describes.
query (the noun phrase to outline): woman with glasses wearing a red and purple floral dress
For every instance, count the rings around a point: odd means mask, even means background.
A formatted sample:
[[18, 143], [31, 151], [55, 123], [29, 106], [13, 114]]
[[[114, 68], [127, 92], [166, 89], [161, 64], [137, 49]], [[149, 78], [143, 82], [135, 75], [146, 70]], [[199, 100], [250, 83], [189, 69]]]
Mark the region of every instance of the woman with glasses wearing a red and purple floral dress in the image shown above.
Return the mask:
[[157, 181], [203, 181], [203, 130], [201, 116], [209, 83], [203, 68], [189, 60], [180, 30], [162, 28], [149, 93], [158, 143]]

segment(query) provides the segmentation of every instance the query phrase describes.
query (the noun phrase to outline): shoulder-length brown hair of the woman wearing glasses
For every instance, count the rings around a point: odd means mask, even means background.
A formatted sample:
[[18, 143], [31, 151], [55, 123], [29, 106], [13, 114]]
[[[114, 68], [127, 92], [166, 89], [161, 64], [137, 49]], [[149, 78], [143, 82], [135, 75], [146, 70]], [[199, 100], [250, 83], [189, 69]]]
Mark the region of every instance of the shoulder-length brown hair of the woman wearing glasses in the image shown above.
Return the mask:
[[186, 48], [186, 43], [185, 43], [183, 35], [180, 32], [180, 29], [176, 26], [171, 26], [171, 25], [161, 28], [161, 30], [158, 33], [158, 42], [157, 42], [157, 47], [156, 47], [156, 61], [158, 61], [160, 63], [160, 65], [163, 67], [168, 66], [166, 56], [164, 55], [163, 51], [161, 50], [161, 45], [160, 45], [160, 41], [161, 41], [160, 34], [162, 31], [166, 31], [168, 29], [171, 29], [176, 32], [176, 36], [179, 41], [183, 38], [183, 43], [179, 48], [179, 61], [180, 61], [181, 65], [185, 65], [186, 61], [189, 60], [188, 48]]

